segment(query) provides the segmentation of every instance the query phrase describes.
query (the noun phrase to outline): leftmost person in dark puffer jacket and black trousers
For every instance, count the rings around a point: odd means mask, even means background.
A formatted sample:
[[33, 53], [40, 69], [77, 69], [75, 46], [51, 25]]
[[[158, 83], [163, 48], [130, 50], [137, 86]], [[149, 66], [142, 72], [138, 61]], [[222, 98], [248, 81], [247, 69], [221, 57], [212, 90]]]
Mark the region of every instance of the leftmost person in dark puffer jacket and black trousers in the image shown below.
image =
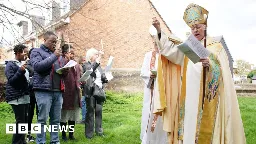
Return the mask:
[[28, 49], [19, 44], [14, 47], [15, 60], [7, 61], [5, 75], [6, 102], [12, 106], [16, 119], [16, 133], [13, 134], [12, 144], [25, 144], [25, 134], [18, 134], [18, 124], [27, 123], [29, 100], [29, 72], [26, 64], [22, 64], [27, 58]]

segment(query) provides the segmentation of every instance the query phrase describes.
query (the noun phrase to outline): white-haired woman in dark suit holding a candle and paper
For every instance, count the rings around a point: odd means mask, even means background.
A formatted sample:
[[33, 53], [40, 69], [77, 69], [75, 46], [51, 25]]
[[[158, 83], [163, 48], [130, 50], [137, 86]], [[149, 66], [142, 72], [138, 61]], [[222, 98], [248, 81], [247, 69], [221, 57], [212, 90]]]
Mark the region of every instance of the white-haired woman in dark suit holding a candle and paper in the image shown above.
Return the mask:
[[102, 105], [104, 99], [104, 83], [108, 80], [100, 66], [100, 52], [95, 48], [91, 48], [86, 52], [86, 62], [83, 64], [83, 71], [93, 70], [89, 79], [84, 84], [84, 96], [86, 97], [86, 119], [85, 119], [85, 135], [91, 139], [94, 131], [95, 116], [95, 132], [98, 136], [103, 136], [102, 129]]

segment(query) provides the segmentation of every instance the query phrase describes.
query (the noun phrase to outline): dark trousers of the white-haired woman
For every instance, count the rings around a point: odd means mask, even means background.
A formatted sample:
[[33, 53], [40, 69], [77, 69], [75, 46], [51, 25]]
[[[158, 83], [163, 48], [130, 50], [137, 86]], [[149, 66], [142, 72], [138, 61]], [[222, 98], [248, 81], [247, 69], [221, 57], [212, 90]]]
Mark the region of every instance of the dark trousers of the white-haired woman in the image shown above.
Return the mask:
[[92, 138], [94, 133], [94, 117], [95, 117], [95, 132], [102, 134], [102, 105], [103, 102], [98, 102], [93, 96], [86, 97], [86, 118], [85, 118], [85, 135], [87, 138]]

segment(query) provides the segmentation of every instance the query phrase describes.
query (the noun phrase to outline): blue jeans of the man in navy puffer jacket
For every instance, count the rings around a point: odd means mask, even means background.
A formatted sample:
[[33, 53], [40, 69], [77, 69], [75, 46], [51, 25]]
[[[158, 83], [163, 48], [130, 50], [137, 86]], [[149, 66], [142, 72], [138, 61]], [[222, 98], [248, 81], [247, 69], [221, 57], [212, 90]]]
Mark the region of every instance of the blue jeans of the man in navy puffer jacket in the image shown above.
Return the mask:
[[[36, 143], [46, 143], [46, 133], [44, 132], [44, 125], [50, 116], [50, 125], [60, 124], [61, 108], [63, 103], [61, 92], [51, 91], [35, 91], [36, 102], [38, 105], [38, 120], [41, 124], [41, 133], [37, 134]], [[58, 132], [51, 132], [51, 143], [59, 142]]]

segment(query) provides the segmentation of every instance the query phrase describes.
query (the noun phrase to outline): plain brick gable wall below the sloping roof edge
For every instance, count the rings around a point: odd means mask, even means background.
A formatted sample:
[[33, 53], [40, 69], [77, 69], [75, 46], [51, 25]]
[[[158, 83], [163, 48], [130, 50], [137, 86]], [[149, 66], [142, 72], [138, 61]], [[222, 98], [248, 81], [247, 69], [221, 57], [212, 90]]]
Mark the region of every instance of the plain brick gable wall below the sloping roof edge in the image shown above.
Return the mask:
[[105, 66], [109, 56], [114, 68], [136, 68], [153, 48], [149, 34], [152, 17], [170, 33], [148, 0], [90, 0], [70, 17], [70, 24], [58, 28], [74, 42], [77, 55], [85, 55], [91, 47], [101, 49], [103, 40]]

